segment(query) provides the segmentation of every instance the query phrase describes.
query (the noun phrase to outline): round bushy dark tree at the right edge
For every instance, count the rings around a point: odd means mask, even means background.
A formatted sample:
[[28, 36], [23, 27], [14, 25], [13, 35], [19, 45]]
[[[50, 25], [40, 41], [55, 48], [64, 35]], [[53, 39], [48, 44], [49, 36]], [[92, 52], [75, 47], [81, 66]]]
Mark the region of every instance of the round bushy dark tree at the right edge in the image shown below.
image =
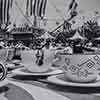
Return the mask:
[[95, 20], [87, 21], [82, 25], [82, 27], [79, 28], [78, 31], [81, 36], [87, 38], [88, 40], [100, 37], [100, 26]]

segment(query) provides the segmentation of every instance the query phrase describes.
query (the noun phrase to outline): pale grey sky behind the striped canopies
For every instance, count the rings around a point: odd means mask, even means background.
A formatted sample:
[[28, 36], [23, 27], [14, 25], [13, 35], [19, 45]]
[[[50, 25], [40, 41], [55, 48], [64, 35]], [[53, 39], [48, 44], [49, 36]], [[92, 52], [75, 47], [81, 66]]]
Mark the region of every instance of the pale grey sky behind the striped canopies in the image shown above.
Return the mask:
[[[26, 22], [25, 17], [25, 3], [26, 0], [14, 0], [17, 1], [19, 8], [13, 5], [13, 10], [11, 12], [11, 21], [17, 25], [22, 25]], [[43, 26], [43, 21], [40, 22], [40, 26], [46, 28], [47, 30], [54, 29], [57, 25], [56, 22], [63, 22], [63, 19], [67, 19], [67, 9], [71, 0], [48, 0], [46, 8], [47, 25]], [[79, 16], [91, 16], [94, 11], [100, 11], [100, 0], [77, 0], [78, 1], [78, 12]], [[21, 8], [22, 12], [19, 11]], [[59, 10], [59, 11], [57, 11]], [[33, 17], [29, 18], [33, 22]]]

